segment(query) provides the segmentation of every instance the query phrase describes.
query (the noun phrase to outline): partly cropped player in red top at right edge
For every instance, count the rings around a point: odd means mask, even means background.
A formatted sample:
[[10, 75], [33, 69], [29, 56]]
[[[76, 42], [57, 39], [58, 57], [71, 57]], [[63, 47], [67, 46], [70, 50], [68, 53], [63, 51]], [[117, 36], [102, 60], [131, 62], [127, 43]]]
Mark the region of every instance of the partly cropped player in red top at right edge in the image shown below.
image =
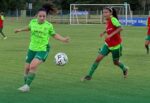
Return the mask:
[[150, 44], [150, 16], [147, 19], [147, 37], [145, 39], [145, 48], [147, 51], [147, 54], [149, 54], [149, 44]]

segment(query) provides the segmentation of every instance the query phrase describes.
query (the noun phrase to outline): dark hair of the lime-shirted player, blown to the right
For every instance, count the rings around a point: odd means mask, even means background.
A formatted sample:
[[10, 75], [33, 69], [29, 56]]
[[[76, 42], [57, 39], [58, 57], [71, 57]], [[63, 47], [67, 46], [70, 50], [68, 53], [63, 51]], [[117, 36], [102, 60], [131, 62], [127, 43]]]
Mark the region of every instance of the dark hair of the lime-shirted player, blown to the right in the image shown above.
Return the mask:
[[53, 14], [53, 13], [56, 13], [57, 12], [57, 9], [55, 8], [55, 6], [53, 5], [53, 4], [44, 4], [43, 6], [42, 6], [42, 8], [40, 8], [39, 10], [38, 10], [38, 12], [39, 11], [45, 11], [46, 12], [46, 14], [48, 15], [48, 14]]

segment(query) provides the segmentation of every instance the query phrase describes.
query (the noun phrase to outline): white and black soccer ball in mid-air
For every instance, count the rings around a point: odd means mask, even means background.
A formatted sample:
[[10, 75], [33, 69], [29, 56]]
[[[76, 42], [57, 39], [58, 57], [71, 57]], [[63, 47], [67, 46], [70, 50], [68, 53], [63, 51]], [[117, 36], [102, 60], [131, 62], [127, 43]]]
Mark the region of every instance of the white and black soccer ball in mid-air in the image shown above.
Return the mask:
[[55, 55], [55, 63], [59, 66], [64, 66], [68, 63], [68, 57], [65, 53], [57, 53]]

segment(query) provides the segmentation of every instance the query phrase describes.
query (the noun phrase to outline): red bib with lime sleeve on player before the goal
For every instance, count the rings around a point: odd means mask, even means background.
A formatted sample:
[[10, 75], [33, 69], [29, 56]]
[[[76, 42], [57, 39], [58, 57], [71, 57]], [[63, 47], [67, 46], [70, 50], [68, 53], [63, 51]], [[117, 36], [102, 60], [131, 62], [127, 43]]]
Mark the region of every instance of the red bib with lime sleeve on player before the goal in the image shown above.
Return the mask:
[[[110, 35], [111, 33], [113, 33], [120, 26], [121, 24], [117, 18], [111, 17], [110, 19], [108, 19], [106, 22], [107, 35]], [[120, 33], [115, 34], [109, 40], [105, 39], [105, 42], [108, 45], [108, 47], [114, 47], [114, 46], [121, 44], [122, 39], [121, 39]]]

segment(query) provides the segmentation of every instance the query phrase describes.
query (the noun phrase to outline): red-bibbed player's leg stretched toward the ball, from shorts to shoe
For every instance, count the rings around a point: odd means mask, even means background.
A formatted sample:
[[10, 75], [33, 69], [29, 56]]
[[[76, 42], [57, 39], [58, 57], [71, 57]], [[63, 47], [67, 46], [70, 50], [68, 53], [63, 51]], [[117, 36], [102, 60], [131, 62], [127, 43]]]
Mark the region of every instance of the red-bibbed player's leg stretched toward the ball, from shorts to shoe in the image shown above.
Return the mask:
[[109, 54], [109, 49], [108, 46], [105, 44], [102, 49], [100, 49], [99, 55], [97, 56], [96, 60], [94, 61], [94, 63], [92, 64], [91, 68], [89, 69], [88, 74], [81, 79], [81, 81], [84, 80], [91, 80], [92, 76], [95, 72], [95, 70], [97, 69], [99, 63], [103, 60], [103, 58]]

